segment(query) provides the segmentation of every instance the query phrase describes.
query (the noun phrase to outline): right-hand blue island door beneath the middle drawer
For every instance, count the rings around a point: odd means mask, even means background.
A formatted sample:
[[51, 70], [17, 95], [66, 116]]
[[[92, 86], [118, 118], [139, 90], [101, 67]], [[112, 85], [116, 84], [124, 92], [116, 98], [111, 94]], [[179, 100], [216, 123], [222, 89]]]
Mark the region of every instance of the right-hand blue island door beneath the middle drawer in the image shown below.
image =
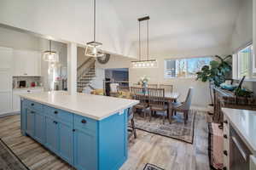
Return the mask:
[[73, 164], [73, 127], [58, 122], [59, 125], [59, 141], [60, 156], [70, 164]]

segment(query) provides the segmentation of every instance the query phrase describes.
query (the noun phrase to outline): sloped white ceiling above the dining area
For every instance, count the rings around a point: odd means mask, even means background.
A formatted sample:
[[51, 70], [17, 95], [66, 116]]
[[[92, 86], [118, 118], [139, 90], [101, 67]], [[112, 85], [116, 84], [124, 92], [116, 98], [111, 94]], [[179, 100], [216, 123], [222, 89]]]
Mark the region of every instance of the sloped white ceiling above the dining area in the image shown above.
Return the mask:
[[[137, 18], [149, 20], [151, 54], [230, 44], [242, 0], [110, 0], [131, 42]], [[146, 27], [142, 26], [142, 31]], [[143, 35], [144, 37], [144, 35]], [[137, 47], [137, 44], [136, 46]]]

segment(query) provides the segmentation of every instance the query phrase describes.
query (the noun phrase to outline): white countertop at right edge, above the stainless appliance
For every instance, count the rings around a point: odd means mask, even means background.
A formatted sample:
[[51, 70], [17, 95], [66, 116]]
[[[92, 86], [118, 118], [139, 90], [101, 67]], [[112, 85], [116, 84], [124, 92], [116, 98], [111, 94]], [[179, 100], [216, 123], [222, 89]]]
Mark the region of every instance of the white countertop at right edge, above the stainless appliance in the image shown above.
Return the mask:
[[256, 156], [256, 111], [223, 108], [232, 127]]

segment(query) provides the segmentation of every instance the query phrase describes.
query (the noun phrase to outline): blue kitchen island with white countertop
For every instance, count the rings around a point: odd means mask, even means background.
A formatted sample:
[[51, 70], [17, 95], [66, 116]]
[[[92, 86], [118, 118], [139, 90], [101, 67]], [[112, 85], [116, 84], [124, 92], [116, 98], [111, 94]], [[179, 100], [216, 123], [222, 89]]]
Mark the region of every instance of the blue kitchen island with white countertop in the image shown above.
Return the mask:
[[22, 94], [20, 129], [79, 170], [127, 159], [127, 114], [137, 100], [66, 92]]

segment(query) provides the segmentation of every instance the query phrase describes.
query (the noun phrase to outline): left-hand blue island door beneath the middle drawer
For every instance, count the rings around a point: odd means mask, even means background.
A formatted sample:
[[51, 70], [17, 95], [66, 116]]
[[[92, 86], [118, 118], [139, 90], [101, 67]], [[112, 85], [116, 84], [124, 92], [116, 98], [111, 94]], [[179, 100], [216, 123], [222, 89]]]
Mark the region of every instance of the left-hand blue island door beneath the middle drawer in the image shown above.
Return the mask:
[[45, 117], [45, 145], [49, 150], [58, 152], [58, 126], [55, 120]]

